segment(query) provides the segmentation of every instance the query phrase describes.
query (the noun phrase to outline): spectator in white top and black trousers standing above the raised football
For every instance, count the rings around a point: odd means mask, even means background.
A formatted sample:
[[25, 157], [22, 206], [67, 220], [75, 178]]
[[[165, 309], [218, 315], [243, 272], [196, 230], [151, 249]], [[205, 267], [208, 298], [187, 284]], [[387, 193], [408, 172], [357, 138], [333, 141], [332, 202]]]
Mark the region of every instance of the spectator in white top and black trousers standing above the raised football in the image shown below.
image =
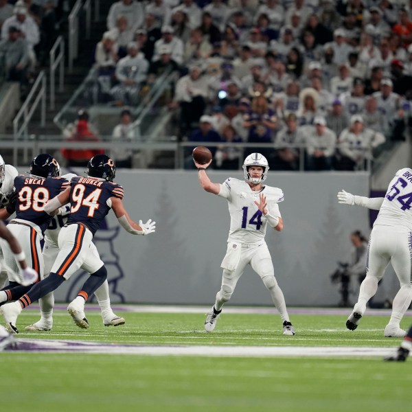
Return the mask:
[[182, 134], [191, 130], [193, 124], [199, 121], [205, 111], [206, 98], [206, 79], [201, 76], [201, 67], [194, 65], [190, 67], [189, 74], [181, 77], [176, 82], [174, 102], [171, 104], [171, 108], [180, 106]]

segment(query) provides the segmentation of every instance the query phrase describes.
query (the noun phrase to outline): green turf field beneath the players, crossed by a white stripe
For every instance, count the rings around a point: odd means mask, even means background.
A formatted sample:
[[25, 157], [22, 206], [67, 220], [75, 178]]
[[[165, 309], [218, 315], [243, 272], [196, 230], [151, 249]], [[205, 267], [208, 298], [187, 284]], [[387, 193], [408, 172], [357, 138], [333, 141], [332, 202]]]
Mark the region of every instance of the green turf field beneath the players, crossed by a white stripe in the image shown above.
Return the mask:
[[[117, 311], [118, 312], [118, 311]], [[119, 314], [119, 313], [118, 313]], [[277, 314], [222, 314], [203, 330], [203, 313], [124, 312], [126, 325], [104, 328], [98, 312], [80, 330], [56, 312], [50, 332], [25, 332], [38, 319], [23, 311], [23, 339], [123, 345], [210, 347], [396, 347], [383, 338], [388, 317], [293, 314], [295, 336], [282, 336]], [[409, 327], [407, 317], [401, 326]], [[114, 346], [114, 345], [113, 345]], [[206, 350], [206, 349], [205, 349]], [[390, 352], [390, 350], [388, 350]], [[110, 349], [108, 350], [110, 352]], [[382, 356], [150, 356], [4, 352], [1, 411], [401, 411], [409, 410], [411, 365]]]

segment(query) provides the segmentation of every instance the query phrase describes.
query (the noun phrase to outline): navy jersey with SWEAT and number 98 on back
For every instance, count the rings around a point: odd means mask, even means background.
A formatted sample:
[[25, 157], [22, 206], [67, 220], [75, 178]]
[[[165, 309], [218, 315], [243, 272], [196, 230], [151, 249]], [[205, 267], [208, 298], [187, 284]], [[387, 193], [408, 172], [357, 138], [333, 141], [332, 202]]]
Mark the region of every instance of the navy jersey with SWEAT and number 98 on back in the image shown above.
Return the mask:
[[45, 204], [57, 196], [70, 183], [62, 177], [27, 177], [16, 176], [14, 187], [17, 193], [16, 218], [35, 223], [44, 232], [52, 216], [45, 212]]

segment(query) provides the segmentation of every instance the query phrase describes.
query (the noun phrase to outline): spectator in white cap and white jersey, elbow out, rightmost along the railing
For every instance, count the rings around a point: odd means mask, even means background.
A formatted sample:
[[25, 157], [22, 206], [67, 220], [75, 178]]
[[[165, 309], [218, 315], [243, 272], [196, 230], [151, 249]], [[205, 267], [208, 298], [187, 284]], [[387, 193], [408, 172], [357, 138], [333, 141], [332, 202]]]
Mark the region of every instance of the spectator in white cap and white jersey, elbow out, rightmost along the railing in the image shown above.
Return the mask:
[[343, 130], [338, 139], [337, 170], [364, 170], [365, 161], [372, 160], [372, 150], [385, 142], [382, 133], [364, 128], [363, 117], [354, 115], [350, 128]]

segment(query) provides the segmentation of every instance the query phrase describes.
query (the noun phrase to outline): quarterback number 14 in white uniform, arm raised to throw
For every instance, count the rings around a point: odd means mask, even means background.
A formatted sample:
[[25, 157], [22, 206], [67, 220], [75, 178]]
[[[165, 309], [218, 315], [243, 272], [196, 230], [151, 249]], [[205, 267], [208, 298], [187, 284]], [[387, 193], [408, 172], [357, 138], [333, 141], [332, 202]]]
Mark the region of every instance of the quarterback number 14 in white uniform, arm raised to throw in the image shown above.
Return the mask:
[[262, 185], [268, 174], [268, 161], [260, 153], [252, 153], [243, 163], [245, 181], [229, 178], [222, 185], [212, 183], [207, 176], [206, 168], [210, 163], [201, 165], [194, 161], [199, 182], [206, 192], [228, 201], [231, 222], [227, 253], [221, 264], [222, 286], [211, 312], [207, 314], [205, 330], [214, 330], [223, 305], [231, 298], [244, 269], [250, 264], [271, 293], [282, 318], [284, 335], [294, 335], [295, 328], [290, 323], [284, 295], [275, 279], [271, 254], [264, 240], [268, 226], [277, 231], [283, 229], [277, 203], [284, 200], [284, 194], [277, 187]]

